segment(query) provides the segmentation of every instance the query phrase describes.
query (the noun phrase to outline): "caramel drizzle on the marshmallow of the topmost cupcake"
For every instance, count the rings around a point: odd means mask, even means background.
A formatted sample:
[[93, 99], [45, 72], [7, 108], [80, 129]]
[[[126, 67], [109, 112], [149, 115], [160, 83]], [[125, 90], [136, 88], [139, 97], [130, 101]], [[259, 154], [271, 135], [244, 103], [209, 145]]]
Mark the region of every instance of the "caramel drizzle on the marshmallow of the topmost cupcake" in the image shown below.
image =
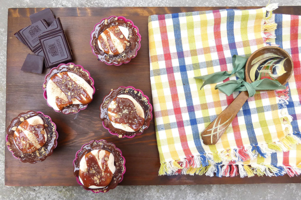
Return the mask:
[[[118, 29], [116, 29], [116, 28], [118, 28], [118, 26], [112, 26], [112, 27], [105, 29], [102, 32], [105, 35], [105, 37], [107, 38], [107, 42], [104, 41], [104, 38], [102, 37], [101, 34], [98, 37], [101, 47], [104, 50], [104, 53], [106, 53], [106, 54], [109, 54], [110, 51], [113, 53], [113, 55], [117, 55], [117, 54], [121, 53], [115, 47], [115, 45], [112, 41], [110, 32], [113, 33], [113, 35], [119, 40], [119, 42], [123, 46], [123, 49], [126, 48], [126, 43], [124, 41], [128, 42], [128, 39], [124, 37], [122, 32], [119, 30], [119, 28]], [[121, 35], [123, 35], [122, 38], [120, 38]]]

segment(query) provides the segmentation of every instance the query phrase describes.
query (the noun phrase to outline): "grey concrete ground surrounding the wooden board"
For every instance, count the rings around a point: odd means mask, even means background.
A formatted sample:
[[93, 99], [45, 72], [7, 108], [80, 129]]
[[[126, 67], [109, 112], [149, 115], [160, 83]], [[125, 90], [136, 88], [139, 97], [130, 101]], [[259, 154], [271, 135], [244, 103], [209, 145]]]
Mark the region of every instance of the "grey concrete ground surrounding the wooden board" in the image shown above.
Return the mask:
[[[276, 3], [277, 1], [272, 1]], [[117, 186], [110, 192], [94, 194], [81, 186], [4, 186], [5, 82], [7, 9], [34, 7], [113, 6], [265, 6], [268, 1], [249, 0], [0, 0], [0, 199], [300, 199], [301, 184]], [[301, 5], [301, 0], [279, 1], [279, 5]]]

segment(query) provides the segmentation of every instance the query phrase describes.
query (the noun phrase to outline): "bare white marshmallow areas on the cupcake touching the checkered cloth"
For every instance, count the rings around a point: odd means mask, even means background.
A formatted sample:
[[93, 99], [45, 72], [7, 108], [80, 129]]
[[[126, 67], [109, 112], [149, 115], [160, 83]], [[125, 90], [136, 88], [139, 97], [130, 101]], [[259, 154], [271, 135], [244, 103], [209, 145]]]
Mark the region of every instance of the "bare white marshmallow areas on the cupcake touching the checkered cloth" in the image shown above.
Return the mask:
[[[139, 115], [141, 118], [144, 118], [144, 111], [143, 111], [141, 105], [133, 97], [131, 97], [129, 95], [126, 95], [126, 94], [121, 94], [121, 95], [118, 95], [117, 97], [126, 98], [126, 99], [131, 100], [132, 103], [135, 105], [135, 108], [136, 108], [135, 112], [137, 112], [137, 115]], [[116, 108], [116, 106], [118, 106], [117, 103], [114, 100], [112, 100], [111, 103], [108, 106], [108, 110], [113, 110], [113, 109]], [[131, 112], [131, 111], [126, 111], [126, 112]], [[110, 119], [112, 117], [114, 117], [114, 118], [119, 117], [118, 113], [113, 113], [113, 112], [110, 112], [110, 111], [108, 111], [108, 116], [109, 116]], [[135, 119], [133, 119], [133, 120], [135, 120]], [[112, 121], [111, 121], [111, 124], [113, 125], [113, 127], [121, 129], [123, 131], [135, 132], [135, 130], [133, 130], [128, 124], [115, 123], [115, 122], [112, 122]]]

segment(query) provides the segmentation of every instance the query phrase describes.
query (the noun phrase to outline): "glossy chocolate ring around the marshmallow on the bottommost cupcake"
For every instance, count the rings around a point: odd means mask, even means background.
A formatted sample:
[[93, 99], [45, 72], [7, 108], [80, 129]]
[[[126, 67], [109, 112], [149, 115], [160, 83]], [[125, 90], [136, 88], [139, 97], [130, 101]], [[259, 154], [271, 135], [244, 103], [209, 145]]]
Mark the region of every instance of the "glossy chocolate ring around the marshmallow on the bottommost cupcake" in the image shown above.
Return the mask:
[[[88, 152], [91, 152], [92, 150], [95, 149], [104, 149], [107, 150], [108, 152], [112, 153], [114, 156], [114, 165], [116, 167], [116, 170], [112, 176], [112, 180], [110, 183], [99, 189], [91, 189], [88, 187], [83, 186], [87, 190], [92, 190], [93, 192], [107, 192], [110, 189], [114, 189], [118, 183], [123, 179], [123, 174], [125, 172], [124, 168], [124, 158], [121, 155], [121, 151], [116, 148], [116, 146], [113, 143], [107, 142], [105, 140], [92, 140], [90, 143], [86, 144], [85, 146], [82, 147], [82, 149], [77, 152], [76, 158], [73, 161], [73, 174], [77, 177], [79, 177], [79, 163], [80, 160], [82, 159], [83, 156], [85, 156]], [[79, 182], [79, 180], [78, 180]], [[80, 182], [79, 182], [80, 183]], [[81, 183], [80, 183], [81, 184]]]

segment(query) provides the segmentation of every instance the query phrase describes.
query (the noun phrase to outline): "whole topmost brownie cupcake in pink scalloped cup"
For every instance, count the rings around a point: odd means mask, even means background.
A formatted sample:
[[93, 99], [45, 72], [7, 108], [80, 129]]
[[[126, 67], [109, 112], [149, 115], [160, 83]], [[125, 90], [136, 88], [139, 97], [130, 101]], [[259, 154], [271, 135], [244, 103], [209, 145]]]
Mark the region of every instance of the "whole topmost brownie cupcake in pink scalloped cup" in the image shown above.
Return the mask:
[[131, 20], [111, 16], [95, 25], [90, 45], [98, 60], [108, 65], [121, 65], [137, 55], [140, 40], [138, 28]]

